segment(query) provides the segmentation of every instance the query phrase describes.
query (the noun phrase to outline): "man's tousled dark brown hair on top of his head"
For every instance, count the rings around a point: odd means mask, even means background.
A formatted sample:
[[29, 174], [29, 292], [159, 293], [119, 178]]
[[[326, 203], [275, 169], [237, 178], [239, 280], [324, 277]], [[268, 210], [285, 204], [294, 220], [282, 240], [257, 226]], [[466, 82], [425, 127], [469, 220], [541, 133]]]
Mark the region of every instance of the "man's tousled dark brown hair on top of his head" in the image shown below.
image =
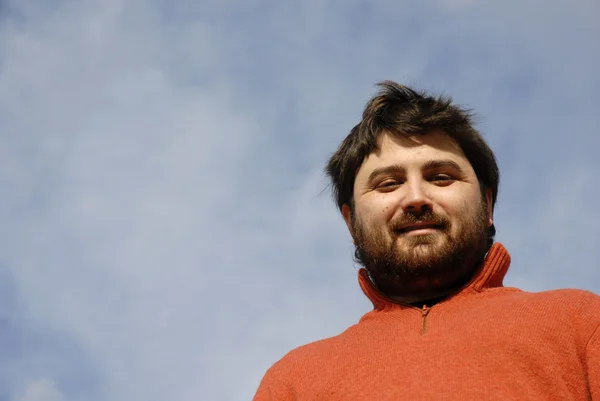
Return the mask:
[[[440, 129], [458, 143], [473, 166], [482, 197], [492, 191], [496, 204], [500, 173], [494, 153], [472, 126], [470, 110], [452, 103], [447, 96], [432, 96], [393, 81], [378, 84], [380, 91], [367, 103], [359, 122], [330, 157], [325, 172], [331, 179], [333, 197], [342, 208], [353, 207], [354, 180], [363, 161], [377, 150], [377, 138], [393, 135], [424, 135]], [[491, 227], [491, 238], [495, 233]]]

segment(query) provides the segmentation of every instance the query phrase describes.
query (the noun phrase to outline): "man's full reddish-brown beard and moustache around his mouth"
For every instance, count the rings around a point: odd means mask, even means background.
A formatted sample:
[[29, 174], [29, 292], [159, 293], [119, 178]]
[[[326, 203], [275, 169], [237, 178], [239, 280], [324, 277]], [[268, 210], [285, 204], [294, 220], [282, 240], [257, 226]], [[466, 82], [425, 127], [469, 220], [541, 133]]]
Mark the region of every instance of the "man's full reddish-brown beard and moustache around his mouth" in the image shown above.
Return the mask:
[[[457, 290], [474, 276], [489, 249], [487, 219], [483, 199], [474, 214], [457, 221], [460, 226], [454, 235], [448, 219], [430, 209], [404, 213], [377, 230], [368, 230], [353, 212], [355, 259], [388, 297], [437, 297]], [[414, 236], [400, 230], [419, 222], [435, 223], [439, 228], [432, 234]]]

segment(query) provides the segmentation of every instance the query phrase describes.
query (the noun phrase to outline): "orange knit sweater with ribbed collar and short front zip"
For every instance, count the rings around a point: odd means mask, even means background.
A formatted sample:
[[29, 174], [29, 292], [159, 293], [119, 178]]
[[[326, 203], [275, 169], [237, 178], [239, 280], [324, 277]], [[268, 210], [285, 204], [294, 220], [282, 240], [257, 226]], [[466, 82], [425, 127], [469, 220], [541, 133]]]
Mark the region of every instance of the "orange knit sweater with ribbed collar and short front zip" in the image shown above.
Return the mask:
[[423, 309], [361, 270], [373, 311], [289, 352], [254, 401], [600, 400], [600, 297], [503, 287], [509, 264], [495, 244], [463, 290]]

